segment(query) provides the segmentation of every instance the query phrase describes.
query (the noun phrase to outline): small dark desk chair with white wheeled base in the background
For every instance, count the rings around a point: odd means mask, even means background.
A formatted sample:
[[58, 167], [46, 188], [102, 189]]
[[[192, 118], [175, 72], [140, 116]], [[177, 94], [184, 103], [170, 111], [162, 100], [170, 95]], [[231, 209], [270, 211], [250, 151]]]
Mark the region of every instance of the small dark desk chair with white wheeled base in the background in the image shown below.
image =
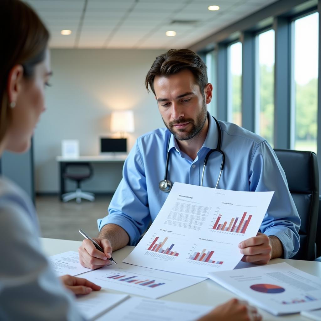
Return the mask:
[[63, 194], [63, 202], [68, 202], [72, 199], [76, 199], [77, 203], [81, 203], [82, 198], [93, 202], [95, 200], [95, 195], [89, 192], [83, 192], [80, 188], [80, 182], [91, 178], [93, 174], [92, 166], [90, 163], [68, 163], [65, 167], [65, 172], [63, 173], [64, 178], [69, 178], [77, 182], [77, 188], [75, 192], [69, 192]]

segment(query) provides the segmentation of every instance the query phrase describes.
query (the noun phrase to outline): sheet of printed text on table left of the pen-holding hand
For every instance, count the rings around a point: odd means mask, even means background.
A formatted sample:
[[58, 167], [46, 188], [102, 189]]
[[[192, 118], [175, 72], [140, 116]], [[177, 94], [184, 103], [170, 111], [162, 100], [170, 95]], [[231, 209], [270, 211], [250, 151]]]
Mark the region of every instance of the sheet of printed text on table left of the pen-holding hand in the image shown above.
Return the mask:
[[79, 254], [75, 251], [68, 251], [61, 254], [48, 257], [51, 266], [57, 276], [69, 274], [78, 275], [84, 272], [91, 271], [83, 267], [79, 262]]

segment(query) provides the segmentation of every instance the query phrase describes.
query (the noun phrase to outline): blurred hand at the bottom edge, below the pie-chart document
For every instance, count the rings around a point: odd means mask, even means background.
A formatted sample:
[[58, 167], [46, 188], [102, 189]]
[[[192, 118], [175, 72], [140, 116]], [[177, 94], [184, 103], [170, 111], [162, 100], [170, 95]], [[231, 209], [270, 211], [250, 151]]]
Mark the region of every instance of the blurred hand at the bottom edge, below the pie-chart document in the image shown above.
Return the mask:
[[262, 317], [257, 313], [256, 308], [251, 307], [245, 301], [231, 299], [198, 321], [260, 321]]

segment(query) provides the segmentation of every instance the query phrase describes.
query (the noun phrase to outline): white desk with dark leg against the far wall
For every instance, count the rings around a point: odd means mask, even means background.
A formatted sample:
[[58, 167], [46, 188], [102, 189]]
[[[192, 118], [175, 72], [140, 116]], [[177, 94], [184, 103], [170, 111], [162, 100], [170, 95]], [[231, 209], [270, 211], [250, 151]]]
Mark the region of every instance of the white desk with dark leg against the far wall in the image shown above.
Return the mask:
[[63, 176], [67, 163], [123, 163], [127, 158], [127, 154], [121, 155], [95, 155], [95, 156], [78, 156], [77, 158], [69, 158], [57, 156], [56, 161], [59, 163], [60, 172], [60, 199], [65, 194], [65, 178]]

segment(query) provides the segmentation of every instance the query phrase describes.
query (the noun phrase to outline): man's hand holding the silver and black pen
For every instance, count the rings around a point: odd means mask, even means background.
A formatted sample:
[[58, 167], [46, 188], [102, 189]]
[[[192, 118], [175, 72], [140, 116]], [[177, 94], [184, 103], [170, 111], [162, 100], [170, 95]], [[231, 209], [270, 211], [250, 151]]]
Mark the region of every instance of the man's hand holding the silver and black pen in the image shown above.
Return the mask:
[[99, 269], [105, 265], [108, 265], [113, 251], [108, 239], [94, 239], [104, 250], [100, 252], [91, 242], [91, 240], [84, 239], [82, 245], [78, 248], [79, 260], [82, 266], [89, 269]]

